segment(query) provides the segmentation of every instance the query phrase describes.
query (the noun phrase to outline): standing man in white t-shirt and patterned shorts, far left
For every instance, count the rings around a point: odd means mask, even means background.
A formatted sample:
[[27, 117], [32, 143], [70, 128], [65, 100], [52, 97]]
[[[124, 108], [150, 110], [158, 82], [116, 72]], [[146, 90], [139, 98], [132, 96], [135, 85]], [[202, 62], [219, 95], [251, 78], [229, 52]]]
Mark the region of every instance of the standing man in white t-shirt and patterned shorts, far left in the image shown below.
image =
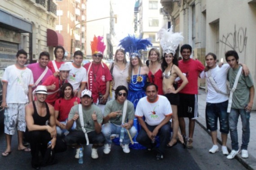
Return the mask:
[[11, 141], [15, 128], [18, 130], [18, 150], [30, 152], [22, 144], [23, 133], [26, 130], [25, 105], [32, 101], [32, 88], [34, 84], [30, 69], [25, 67], [27, 61], [26, 51], [19, 50], [16, 55], [17, 63], [7, 67], [2, 78], [4, 108], [4, 133], [7, 147], [2, 156], [7, 157], [11, 152]]

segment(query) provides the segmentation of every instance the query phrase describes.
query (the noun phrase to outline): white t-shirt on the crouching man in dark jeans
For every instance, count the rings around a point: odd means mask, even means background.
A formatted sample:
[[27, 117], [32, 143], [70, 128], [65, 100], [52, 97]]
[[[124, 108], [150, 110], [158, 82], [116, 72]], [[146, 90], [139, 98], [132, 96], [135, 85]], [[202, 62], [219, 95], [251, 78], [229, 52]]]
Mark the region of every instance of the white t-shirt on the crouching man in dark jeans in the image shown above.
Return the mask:
[[145, 116], [145, 122], [150, 126], [159, 125], [168, 115], [172, 115], [172, 107], [168, 99], [162, 95], [158, 95], [155, 102], [149, 102], [147, 96], [141, 98], [135, 111], [135, 116]]

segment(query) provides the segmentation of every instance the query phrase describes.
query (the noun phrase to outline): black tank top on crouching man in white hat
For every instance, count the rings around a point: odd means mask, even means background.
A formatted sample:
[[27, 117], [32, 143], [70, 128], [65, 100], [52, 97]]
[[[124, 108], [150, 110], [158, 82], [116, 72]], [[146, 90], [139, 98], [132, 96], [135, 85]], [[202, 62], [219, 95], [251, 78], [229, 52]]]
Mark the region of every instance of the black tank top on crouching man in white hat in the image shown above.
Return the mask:
[[36, 125], [48, 125], [49, 124], [49, 119], [50, 119], [50, 110], [48, 107], [48, 104], [45, 103], [46, 106], [46, 115], [44, 117], [38, 115], [36, 107], [35, 107], [35, 102], [33, 102], [33, 107], [34, 107], [34, 114], [33, 114], [33, 119], [34, 119], [34, 124]]

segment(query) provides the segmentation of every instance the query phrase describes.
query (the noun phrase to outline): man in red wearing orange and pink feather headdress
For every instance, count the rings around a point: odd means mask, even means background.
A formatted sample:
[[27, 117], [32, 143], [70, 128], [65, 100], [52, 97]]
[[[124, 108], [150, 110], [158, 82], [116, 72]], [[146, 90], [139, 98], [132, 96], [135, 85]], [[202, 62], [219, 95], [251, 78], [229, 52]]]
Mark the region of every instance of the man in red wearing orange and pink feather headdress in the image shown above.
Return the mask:
[[[110, 90], [112, 76], [108, 66], [102, 62], [105, 45], [103, 37], [95, 37], [91, 42], [93, 62], [84, 65], [87, 71], [87, 89], [92, 91], [93, 103], [97, 104], [104, 113]], [[100, 44], [100, 45], [99, 45]]]

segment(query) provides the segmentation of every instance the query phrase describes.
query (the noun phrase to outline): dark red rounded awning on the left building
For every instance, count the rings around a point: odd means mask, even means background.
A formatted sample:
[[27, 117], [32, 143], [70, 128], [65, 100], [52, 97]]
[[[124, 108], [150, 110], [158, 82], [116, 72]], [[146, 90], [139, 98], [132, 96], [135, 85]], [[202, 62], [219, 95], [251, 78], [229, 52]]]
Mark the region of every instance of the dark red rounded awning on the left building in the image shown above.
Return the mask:
[[50, 47], [56, 47], [56, 46], [63, 46], [64, 45], [64, 39], [62, 37], [62, 34], [47, 29], [47, 46]]

